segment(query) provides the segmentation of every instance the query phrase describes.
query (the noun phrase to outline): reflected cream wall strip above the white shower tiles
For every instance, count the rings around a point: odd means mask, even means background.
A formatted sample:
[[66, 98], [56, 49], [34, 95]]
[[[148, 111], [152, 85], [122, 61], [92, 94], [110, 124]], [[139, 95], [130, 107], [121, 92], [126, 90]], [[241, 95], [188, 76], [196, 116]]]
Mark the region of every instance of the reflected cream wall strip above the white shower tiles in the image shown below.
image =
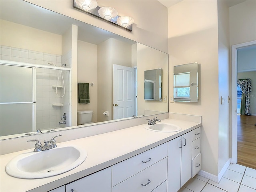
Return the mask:
[[0, 21], [0, 44], [61, 55], [62, 36], [6, 20]]

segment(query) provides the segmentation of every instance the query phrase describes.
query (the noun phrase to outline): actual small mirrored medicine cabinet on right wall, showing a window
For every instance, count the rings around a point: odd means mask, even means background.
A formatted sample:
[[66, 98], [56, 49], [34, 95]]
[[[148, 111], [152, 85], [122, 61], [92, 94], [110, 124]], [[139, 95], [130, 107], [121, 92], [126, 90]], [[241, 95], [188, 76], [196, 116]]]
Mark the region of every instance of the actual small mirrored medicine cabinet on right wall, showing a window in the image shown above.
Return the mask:
[[174, 101], [198, 102], [198, 62], [174, 66]]

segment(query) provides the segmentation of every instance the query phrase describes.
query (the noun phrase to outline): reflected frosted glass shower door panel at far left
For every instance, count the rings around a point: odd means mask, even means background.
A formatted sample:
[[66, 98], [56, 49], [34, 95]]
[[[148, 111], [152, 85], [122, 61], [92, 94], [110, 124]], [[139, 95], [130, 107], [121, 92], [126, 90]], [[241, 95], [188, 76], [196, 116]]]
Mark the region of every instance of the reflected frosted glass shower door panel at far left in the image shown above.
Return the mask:
[[33, 68], [0, 65], [0, 136], [32, 132]]

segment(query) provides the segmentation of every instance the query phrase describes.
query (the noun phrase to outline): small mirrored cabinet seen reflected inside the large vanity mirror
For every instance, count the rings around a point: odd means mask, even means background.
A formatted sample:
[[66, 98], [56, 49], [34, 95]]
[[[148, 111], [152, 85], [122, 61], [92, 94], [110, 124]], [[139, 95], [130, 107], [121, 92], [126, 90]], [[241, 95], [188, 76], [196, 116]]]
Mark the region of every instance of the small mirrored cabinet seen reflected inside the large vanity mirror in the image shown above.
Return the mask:
[[162, 69], [144, 71], [144, 100], [162, 101]]

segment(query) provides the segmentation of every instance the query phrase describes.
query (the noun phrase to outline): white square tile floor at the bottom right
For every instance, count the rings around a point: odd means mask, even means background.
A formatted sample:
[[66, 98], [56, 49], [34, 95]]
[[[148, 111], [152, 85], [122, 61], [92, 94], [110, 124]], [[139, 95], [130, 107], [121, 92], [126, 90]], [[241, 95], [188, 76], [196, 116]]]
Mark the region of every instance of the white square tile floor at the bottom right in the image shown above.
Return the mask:
[[178, 192], [256, 192], [256, 170], [230, 164], [220, 183], [196, 175]]

